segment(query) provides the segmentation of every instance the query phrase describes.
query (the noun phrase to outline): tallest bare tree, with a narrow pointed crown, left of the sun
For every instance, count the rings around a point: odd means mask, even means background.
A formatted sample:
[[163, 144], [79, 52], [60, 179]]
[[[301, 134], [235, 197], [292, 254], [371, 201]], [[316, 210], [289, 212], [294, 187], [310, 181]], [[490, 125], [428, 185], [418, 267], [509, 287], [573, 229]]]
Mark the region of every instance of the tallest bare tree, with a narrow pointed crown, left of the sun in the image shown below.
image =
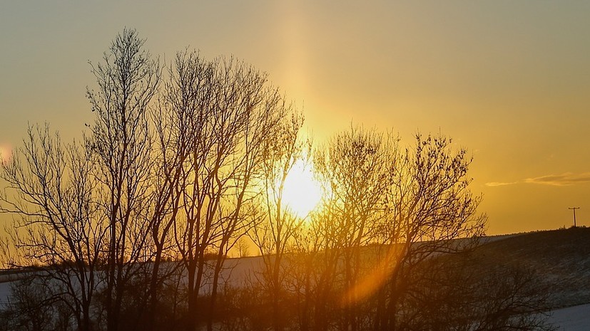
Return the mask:
[[106, 233], [107, 330], [119, 329], [126, 285], [146, 259], [151, 209], [156, 197], [148, 110], [158, 90], [161, 69], [143, 50], [134, 30], [123, 30], [103, 63], [92, 65], [98, 89], [88, 89], [96, 112], [87, 145], [96, 157], [96, 188]]

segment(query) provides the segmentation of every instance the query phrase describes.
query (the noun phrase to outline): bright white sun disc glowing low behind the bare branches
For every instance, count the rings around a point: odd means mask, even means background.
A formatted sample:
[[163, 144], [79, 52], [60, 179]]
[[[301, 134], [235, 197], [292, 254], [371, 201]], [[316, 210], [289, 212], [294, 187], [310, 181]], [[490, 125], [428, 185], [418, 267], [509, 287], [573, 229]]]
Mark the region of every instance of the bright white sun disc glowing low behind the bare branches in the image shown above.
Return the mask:
[[309, 165], [299, 159], [293, 164], [283, 186], [283, 201], [294, 214], [304, 219], [322, 199], [322, 189]]

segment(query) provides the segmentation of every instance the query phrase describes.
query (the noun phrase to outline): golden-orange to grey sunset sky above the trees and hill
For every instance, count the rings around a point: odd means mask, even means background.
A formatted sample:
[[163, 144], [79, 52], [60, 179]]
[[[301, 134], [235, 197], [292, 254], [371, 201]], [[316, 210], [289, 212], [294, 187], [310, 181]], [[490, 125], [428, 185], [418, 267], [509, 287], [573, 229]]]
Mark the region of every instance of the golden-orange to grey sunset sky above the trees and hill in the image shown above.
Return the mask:
[[[121, 1], [123, 2], [123, 1]], [[489, 234], [590, 226], [590, 1], [2, 1], [0, 148], [68, 140], [116, 33], [169, 63], [198, 48], [269, 74], [317, 145], [350, 123], [472, 152]], [[0, 220], [6, 216], [0, 216]]]

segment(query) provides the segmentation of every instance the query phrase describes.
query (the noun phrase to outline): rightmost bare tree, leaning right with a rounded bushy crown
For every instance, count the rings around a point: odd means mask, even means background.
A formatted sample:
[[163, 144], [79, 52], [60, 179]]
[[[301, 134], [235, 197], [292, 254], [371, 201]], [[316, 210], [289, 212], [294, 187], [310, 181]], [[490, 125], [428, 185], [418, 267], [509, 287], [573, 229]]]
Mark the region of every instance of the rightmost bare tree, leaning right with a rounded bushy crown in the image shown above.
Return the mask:
[[[467, 150], [453, 149], [442, 135], [416, 135], [416, 144], [395, 157], [389, 169], [385, 218], [377, 224], [380, 240], [389, 247], [386, 268], [376, 272], [381, 282], [375, 330], [399, 327], [407, 282], [418, 263], [439, 253], [472, 248], [483, 234], [487, 217], [477, 214], [480, 196], [469, 190], [471, 159]], [[464, 238], [463, 240], [455, 240]]]

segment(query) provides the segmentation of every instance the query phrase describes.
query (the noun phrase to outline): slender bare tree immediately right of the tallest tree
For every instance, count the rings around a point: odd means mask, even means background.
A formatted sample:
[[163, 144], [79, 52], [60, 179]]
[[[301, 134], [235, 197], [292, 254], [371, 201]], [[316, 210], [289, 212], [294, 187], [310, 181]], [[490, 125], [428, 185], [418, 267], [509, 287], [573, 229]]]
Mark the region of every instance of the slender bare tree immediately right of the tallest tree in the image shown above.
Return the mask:
[[[195, 144], [193, 116], [197, 111], [198, 98], [195, 98], [195, 85], [210, 83], [210, 72], [203, 65], [194, 61], [194, 53], [178, 53], [175, 65], [168, 69], [168, 80], [164, 83], [163, 93], [158, 95], [158, 107], [151, 112], [151, 122], [155, 134], [152, 181], [153, 214], [150, 219], [151, 275], [149, 278], [148, 309], [145, 310], [146, 327], [157, 328], [156, 317], [161, 310], [161, 291], [168, 278], [178, 278], [183, 268], [180, 263], [163, 266], [166, 257], [178, 259], [178, 251], [174, 241], [177, 222], [180, 219], [185, 183], [188, 173], [184, 165], [189, 156], [191, 146]], [[203, 69], [204, 68], [204, 69]], [[176, 288], [179, 290], [179, 288]]]

